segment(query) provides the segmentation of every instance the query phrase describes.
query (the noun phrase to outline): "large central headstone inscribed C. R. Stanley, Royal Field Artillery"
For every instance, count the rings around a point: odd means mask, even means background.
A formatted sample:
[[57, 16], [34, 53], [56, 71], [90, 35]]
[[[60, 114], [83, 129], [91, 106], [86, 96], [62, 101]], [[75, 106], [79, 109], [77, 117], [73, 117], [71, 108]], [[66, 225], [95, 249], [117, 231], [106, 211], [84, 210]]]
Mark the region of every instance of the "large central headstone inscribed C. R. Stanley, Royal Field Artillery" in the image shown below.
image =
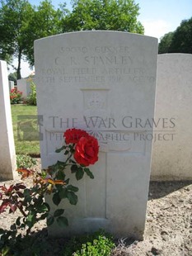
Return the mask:
[[69, 226], [52, 225], [50, 235], [103, 228], [143, 238], [152, 141], [140, 141], [146, 130], [135, 127], [135, 117], [153, 116], [156, 69], [157, 39], [148, 36], [82, 31], [35, 41], [43, 168], [63, 159], [55, 149], [68, 128], [87, 130], [100, 143], [95, 179], [71, 178], [77, 206], [64, 205]]

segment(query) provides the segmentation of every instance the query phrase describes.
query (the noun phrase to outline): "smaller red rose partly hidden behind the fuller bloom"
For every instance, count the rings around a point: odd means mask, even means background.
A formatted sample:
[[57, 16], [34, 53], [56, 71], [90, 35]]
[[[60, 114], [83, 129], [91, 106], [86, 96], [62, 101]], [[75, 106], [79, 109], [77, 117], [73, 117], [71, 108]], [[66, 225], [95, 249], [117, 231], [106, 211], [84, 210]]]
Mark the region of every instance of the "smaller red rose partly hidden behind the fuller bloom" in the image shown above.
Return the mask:
[[66, 144], [74, 143], [76, 144], [82, 137], [87, 137], [89, 134], [85, 130], [80, 129], [68, 129], [64, 132], [63, 137], [65, 137]]

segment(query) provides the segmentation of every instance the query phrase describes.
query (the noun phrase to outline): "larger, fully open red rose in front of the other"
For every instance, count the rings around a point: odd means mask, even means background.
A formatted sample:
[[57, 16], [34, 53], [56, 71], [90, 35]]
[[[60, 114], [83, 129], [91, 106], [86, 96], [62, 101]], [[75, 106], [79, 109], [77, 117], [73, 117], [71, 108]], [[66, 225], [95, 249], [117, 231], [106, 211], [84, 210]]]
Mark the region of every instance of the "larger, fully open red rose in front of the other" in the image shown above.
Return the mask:
[[88, 166], [90, 164], [95, 164], [98, 160], [99, 145], [96, 138], [89, 135], [87, 137], [82, 137], [75, 147], [74, 159], [77, 164], [83, 164]]

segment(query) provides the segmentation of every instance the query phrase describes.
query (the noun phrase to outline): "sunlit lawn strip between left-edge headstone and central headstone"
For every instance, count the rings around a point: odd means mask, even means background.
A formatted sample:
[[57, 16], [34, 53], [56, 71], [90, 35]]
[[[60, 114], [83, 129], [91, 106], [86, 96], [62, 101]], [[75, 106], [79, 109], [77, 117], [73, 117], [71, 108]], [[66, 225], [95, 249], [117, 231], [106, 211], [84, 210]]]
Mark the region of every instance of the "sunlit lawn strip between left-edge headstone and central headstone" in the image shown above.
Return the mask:
[[[12, 105], [16, 154], [40, 155], [40, 141], [38, 132], [35, 130], [36, 120], [33, 116], [37, 116], [36, 106]], [[33, 130], [35, 131], [33, 132]]]

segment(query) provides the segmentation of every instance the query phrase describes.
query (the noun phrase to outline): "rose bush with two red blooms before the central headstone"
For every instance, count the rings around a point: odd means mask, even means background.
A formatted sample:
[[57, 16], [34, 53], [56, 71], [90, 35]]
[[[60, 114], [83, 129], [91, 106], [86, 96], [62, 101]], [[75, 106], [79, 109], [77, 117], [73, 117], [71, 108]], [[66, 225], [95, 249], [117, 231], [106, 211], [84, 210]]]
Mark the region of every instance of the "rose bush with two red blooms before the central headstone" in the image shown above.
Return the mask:
[[[39, 220], [47, 218], [47, 225], [52, 225], [56, 221], [59, 226], [68, 225], [68, 219], [63, 216], [64, 209], [56, 209], [50, 213], [50, 206], [44, 201], [44, 195], [52, 196], [54, 205], [59, 206], [60, 202], [67, 199], [70, 204], [77, 204], [78, 187], [74, 187], [68, 178], [68, 170], [75, 174], [77, 180], [83, 178], [86, 173], [90, 178], [94, 178], [90, 169], [90, 164], [95, 164], [98, 160], [99, 145], [96, 138], [89, 135], [85, 130], [69, 129], [63, 134], [65, 144], [56, 149], [57, 153], [63, 151], [64, 161], [43, 169], [41, 173], [27, 168], [19, 168], [22, 179], [32, 177], [34, 186], [27, 188], [23, 183], [16, 183], [14, 186], [0, 187], [0, 214], [9, 208], [9, 213], [20, 211], [21, 216], [16, 219], [16, 223], [11, 226], [11, 230], [0, 228], [0, 254], [1, 248], [17, 246], [17, 230], [26, 229], [26, 235], [30, 234], [31, 228]], [[67, 170], [67, 171], [66, 171]], [[66, 171], [66, 172], [65, 172]], [[2, 246], [2, 247], [1, 247]]]

